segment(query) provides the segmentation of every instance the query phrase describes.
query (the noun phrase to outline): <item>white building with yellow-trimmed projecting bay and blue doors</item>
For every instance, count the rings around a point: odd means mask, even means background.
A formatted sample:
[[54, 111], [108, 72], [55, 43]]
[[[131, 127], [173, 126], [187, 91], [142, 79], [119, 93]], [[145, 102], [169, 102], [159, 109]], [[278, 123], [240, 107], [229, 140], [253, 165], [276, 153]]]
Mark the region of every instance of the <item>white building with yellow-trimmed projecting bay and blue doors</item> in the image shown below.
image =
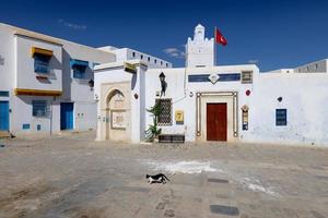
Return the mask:
[[93, 68], [115, 61], [109, 50], [0, 23], [0, 133], [95, 130]]

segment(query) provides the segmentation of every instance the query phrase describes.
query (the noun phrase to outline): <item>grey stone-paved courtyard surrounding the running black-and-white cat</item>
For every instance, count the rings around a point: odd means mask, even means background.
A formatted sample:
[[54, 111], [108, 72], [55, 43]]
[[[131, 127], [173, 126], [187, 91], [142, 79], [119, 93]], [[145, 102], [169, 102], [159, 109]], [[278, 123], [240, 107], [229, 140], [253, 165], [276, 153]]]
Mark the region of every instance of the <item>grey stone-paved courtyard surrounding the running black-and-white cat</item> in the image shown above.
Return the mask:
[[328, 217], [328, 149], [93, 138], [0, 141], [0, 217]]

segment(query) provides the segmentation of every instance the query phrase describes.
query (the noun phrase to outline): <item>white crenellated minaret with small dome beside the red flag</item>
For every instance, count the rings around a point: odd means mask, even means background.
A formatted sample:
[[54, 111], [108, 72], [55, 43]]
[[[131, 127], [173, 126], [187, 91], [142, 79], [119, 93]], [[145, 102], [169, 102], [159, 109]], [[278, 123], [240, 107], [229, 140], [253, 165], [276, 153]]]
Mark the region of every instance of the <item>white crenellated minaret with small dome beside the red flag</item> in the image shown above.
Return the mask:
[[194, 39], [188, 38], [186, 46], [186, 68], [203, 68], [214, 65], [214, 38], [204, 37], [204, 27], [195, 27]]

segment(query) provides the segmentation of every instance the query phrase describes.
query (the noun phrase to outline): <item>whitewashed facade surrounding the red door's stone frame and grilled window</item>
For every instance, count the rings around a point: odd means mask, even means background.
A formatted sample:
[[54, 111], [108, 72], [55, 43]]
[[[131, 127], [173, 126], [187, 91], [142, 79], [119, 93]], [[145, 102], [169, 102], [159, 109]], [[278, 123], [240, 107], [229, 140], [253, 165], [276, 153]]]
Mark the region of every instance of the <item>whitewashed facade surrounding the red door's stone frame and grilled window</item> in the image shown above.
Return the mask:
[[[159, 75], [163, 72], [167, 82], [166, 98], [172, 98], [173, 109], [173, 124], [168, 126], [161, 126], [163, 133], [167, 134], [185, 134], [186, 141], [196, 140], [196, 94], [198, 92], [237, 92], [238, 93], [238, 110], [249, 99], [245, 92], [250, 89], [253, 92], [253, 84], [242, 84], [241, 81], [216, 82], [212, 84], [208, 82], [188, 83], [188, 75], [195, 74], [212, 74], [212, 73], [241, 73], [242, 71], [253, 71], [254, 77], [258, 76], [259, 70], [256, 65], [229, 65], [229, 66], [212, 66], [212, 68], [190, 68], [190, 69], [150, 69], [145, 75], [145, 107], [150, 108], [154, 105], [156, 92], [161, 90], [161, 83]], [[186, 84], [185, 84], [186, 83]], [[186, 92], [185, 92], [186, 87]], [[190, 93], [192, 97], [190, 97]], [[176, 110], [184, 110], [185, 123], [177, 124], [175, 122], [174, 113]], [[152, 124], [153, 120], [147, 113], [147, 126]], [[242, 114], [238, 112], [239, 134]]]

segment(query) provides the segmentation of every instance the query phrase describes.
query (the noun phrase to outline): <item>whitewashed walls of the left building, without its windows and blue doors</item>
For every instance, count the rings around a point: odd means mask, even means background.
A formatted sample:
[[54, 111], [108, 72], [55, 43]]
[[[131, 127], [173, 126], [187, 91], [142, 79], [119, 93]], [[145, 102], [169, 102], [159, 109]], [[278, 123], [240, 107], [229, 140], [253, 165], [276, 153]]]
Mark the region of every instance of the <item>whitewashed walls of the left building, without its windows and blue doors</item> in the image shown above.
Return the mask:
[[[21, 35], [14, 35], [20, 33]], [[25, 36], [27, 35], [27, 36]], [[40, 39], [36, 39], [40, 38]], [[46, 43], [56, 41], [52, 43]], [[93, 76], [93, 63], [115, 61], [115, 55], [96, 48], [28, 32], [0, 23], [0, 90], [9, 90], [10, 97], [0, 100], [10, 102], [10, 131], [13, 134], [49, 133], [50, 118], [32, 116], [32, 100], [46, 99], [52, 102], [52, 132], [60, 131], [60, 102], [74, 102], [74, 128], [78, 131], [96, 129], [96, 102], [94, 92], [89, 87]], [[58, 45], [61, 44], [62, 46]], [[50, 60], [49, 83], [42, 83], [34, 72], [34, 59], [31, 48], [39, 47], [54, 51]], [[90, 62], [86, 80], [73, 80], [70, 59]], [[42, 90], [62, 90], [60, 97], [15, 96], [14, 88], [31, 88]], [[23, 124], [30, 124], [30, 130], [23, 130]], [[36, 131], [40, 124], [42, 130]]]

